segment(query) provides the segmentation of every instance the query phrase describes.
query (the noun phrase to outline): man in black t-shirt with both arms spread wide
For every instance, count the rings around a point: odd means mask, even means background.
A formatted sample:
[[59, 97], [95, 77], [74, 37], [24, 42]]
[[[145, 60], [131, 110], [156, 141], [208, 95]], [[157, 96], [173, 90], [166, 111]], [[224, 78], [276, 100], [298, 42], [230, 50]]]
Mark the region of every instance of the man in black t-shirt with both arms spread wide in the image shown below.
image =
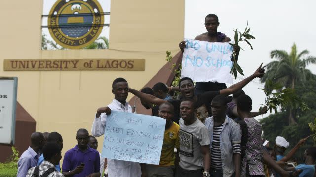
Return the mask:
[[[220, 91], [207, 91], [200, 95], [194, 94], [194, 83], [192, 79], [188, 77], [184, 77], [179, 82], [179, 89], [181, 92], [181, 95], [183, 98], [191, 98], [194, 100], [194, 106], [195, 106], [195, 117], [201, 120], [202, 122], [205, 121], [205, 118], [208, 118], [211, 115], [211, 101], [212, 99], [219, 94], [223, 95], [230, 95], [235, 93], [237, 90], [242, 89], [245, 85], [247, 85], [250, 81], [252, 81], [256, 77], [262, 77], [264, 75], [264, 69], [262, 67], [262, 64], [259, 66], [259, 68], [249, 77], [246, 79], [233, 84], [227, 89], [222, 89]], [[179, 108], [181, 100], [163, 100], [160, 98], [157, 98], [150, 94], [145, 94], [140, 91], [137, 91], [135, 89], [129, 88], [129, 91], [133, 93], [134, 95], [138, 96], [140, 99], [146, 101], [150, 104], [160, 105], [165, 102], [169, 102], [174, 106], [175, 115], [177, 118], [180, 118], [179, 114]], [[175, 120], [174, 120], [175, 121]], [[177, 121], [175, 121], [177, 122]]]

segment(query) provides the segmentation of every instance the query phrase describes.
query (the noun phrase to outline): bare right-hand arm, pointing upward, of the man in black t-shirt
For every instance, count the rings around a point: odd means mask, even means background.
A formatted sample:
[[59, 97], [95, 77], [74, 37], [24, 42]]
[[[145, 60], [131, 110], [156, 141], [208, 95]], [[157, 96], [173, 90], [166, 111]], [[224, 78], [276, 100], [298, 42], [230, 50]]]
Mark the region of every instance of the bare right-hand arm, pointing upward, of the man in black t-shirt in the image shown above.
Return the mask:
[[264, 67], [262, 67], [262, 64], [259, 66], [259, 68], [249, 77], [247, 77], [246, 79], [236, 83], [236, 84], [233, 84], [232, 86], [230, 86], [229, 88], [227, 89], [222, 89], [219, 91], [220, 94], [223, 94], [223, 95], [230, 95], [230, 94], [233, 94], [235, 93], [236, 91], [242, 89], [243, 87], [245, 87], [245, 85], [247, 85], [250, 81], [252, 81], [254, 78], [256, 77], [262, 77], [264, 75]]

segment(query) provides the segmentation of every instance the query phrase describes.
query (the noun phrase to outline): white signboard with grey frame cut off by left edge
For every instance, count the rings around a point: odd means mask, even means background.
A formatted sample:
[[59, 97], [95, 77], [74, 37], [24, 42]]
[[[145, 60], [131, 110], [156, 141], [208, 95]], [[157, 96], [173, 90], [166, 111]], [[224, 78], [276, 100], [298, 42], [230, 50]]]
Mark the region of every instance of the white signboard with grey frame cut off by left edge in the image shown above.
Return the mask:
[[0, 77], [0, 144], [14, 144], [17, 77]]

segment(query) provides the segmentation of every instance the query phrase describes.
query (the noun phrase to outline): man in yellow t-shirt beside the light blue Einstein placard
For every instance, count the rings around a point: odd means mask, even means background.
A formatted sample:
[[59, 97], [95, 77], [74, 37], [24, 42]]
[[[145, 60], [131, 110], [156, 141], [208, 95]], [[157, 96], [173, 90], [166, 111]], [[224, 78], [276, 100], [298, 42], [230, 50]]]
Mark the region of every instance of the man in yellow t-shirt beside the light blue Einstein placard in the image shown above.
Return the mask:
[[180, 126], [172, 121], [173, 112], [173, 106], [170, 103], [163, 103], [159, 107], [159, 117], [166, 119], [160, 163], [145, 165], [147, 177], [173, 177], [175, 166], [178, 165], [179, 159], [178, 156], [176, 158], [174, 148], [177, 148], [179, 152]]

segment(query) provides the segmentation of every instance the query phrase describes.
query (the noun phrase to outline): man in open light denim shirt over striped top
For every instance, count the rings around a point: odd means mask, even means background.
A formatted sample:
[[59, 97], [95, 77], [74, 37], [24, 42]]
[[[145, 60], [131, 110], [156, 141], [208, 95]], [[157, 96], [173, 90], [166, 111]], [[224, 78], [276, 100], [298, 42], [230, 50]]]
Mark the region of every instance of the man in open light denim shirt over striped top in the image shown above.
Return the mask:
[[217, 95], [211, 103], [212, 117], [205, 126], [210, 133], [211, 177], [240, 177], [241, 131], [239, 125], [225, 112], [228, 98]]

